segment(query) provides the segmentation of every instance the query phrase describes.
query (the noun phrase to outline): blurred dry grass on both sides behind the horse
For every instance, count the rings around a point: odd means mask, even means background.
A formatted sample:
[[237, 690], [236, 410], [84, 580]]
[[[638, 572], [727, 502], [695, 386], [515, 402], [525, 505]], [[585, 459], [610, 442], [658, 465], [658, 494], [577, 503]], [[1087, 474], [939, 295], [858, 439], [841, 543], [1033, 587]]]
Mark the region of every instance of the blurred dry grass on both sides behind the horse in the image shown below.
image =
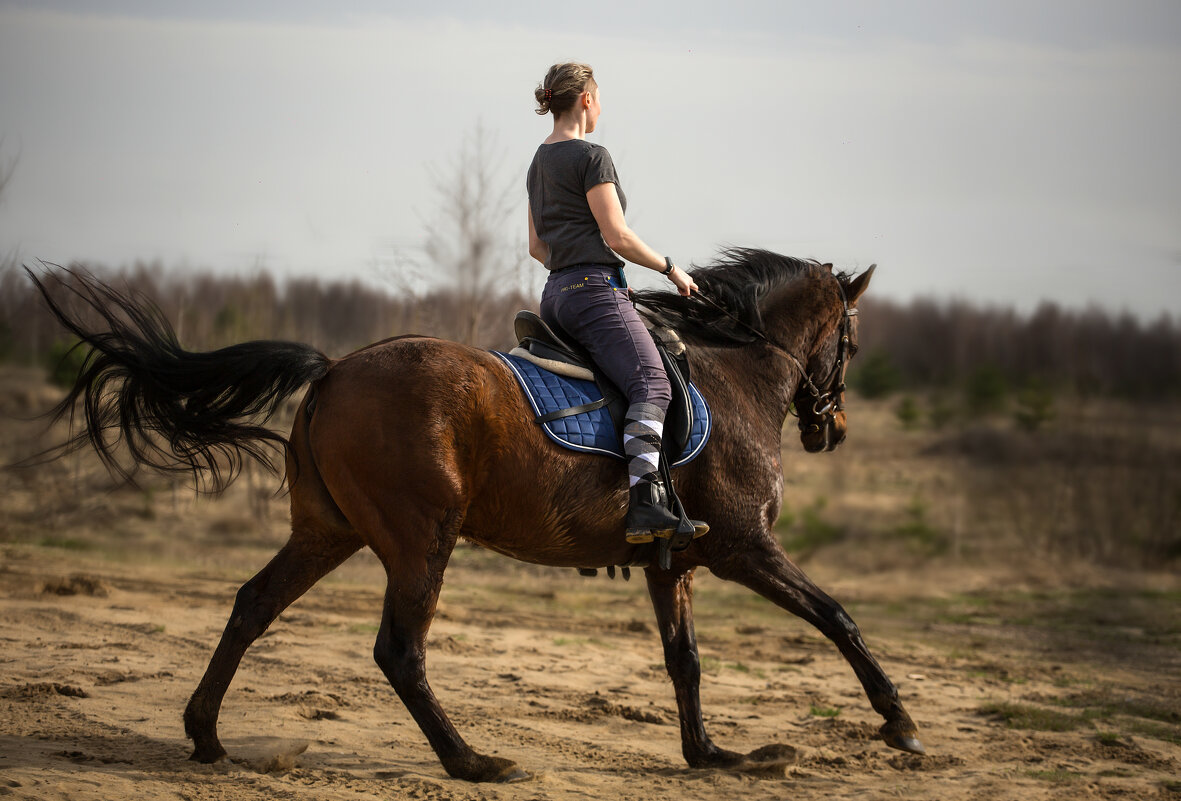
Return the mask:
[[[63, 425], [27, 419], [58, 397], [39, 371], [0, 369], [0, 460], [64, 439]], [[848, 441], [820, 456], [797, 447], [789, 421], [777, 530], [798, 561], [1052, 573], [1181, 560], [1181, 409], [1062, 403], [1027, 432], [1009, 418], [908, 429], [894, 405], [852, 398]], [[0, 473], [0, 541], [184, 559], [191, 545], [269, 551], [286, 536], [286, 497], [256, 465], [218, 499], [198, 499], [183, 476], [138, 480], [116, 482], [90, 452]]]

